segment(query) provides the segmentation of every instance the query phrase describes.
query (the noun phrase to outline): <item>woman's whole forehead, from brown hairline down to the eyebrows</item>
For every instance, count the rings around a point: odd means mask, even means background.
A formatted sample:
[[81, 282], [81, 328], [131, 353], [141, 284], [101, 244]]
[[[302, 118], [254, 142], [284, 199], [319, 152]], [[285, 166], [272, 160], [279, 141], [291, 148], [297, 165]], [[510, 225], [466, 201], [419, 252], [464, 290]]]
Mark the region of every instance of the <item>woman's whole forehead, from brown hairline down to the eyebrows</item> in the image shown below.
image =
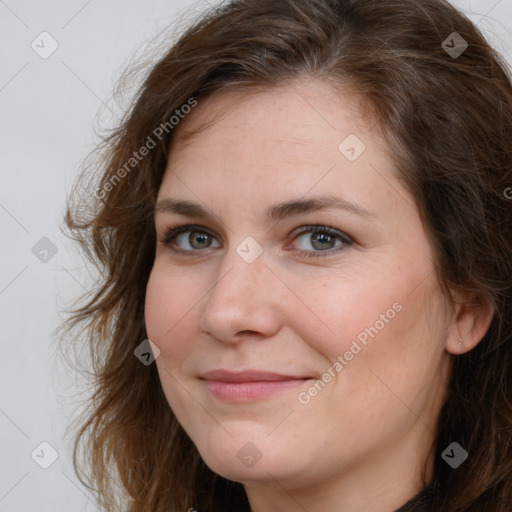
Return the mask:
[[208, 207], [222, 198], [229, 205], [216, 207], [256, 213], [263, 203], [338, 194], [373, 209], [402, 200], [391, 197], [400, 188], [393, 169], [353, 94], [320, 81], [222, 91], [178, 126], [159, 199]]

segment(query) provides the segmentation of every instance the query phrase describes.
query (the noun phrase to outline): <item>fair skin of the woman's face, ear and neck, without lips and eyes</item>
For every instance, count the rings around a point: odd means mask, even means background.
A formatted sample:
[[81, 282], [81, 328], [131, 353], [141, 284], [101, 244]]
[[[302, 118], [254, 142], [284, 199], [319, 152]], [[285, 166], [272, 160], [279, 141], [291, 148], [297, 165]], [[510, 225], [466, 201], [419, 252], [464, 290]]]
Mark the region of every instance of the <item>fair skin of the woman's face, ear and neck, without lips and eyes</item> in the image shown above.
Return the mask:
[[[352, 162], [338, 149], [349, 134], [366, 146]], [[158, 201], [189, 200], [210, 212], [207, 219], [155, 216], [146, 326], [180, 424], [213, 471], [244, 484], [253, 512], [398, 508], [422, 489], [425, 461], [432, 477], [427, 455], [451, 353], [473, 348], [491, 313], [464, 306], [462, 296], [449, 308], [414, 199], [354, 96], [315, 79], [224, 91], [200, 102], [175, 135]], [[271, 205], [325, 194], [373, 217], [330, 208], [265, 218]], [[200, 225], [212, 236], [199, 248], [190, 233], [165, 245], [175, 224]], [[300, 251], [322, 250], [311, 233], [295, 231], [312, 224], [354, 242], [328, 239], [331, 255], [308, 258]], [[252, 263], [236, 251], [249, 236], [263, 250]], [[400, 312], [300, 403], [298, 394], [397, 303]], [[232, 404], [199, 378], [218, 368], [311, 380]], [[261, 455], [252, 467], [237, 457], [247, 443]]]

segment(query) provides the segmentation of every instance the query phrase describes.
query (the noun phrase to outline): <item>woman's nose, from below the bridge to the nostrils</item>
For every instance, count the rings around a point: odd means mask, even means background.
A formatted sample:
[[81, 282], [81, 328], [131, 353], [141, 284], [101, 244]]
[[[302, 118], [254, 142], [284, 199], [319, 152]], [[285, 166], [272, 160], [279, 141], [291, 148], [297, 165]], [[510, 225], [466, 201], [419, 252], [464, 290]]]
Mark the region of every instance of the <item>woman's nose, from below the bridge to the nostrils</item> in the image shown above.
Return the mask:
[[235, 250], [230, 251], [219, 265], [208, 296], [200, 321], [202, 331], [226, 343], [274, 335], [281, 325], [281, 288], [264, 253], [247, 263]]

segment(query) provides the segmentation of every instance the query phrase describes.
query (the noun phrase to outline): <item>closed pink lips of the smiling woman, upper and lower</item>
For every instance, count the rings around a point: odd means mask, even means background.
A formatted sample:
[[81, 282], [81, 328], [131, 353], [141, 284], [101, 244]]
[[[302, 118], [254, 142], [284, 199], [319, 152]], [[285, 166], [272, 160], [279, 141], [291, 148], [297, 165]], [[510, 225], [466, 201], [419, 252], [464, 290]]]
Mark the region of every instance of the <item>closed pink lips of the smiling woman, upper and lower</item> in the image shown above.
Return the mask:
[[206, 389], [218, 400], [230, 403], [251, 402], [293, 389], [310, 380], [309, 376], [247, 370], [214, 370], [201, 376]]

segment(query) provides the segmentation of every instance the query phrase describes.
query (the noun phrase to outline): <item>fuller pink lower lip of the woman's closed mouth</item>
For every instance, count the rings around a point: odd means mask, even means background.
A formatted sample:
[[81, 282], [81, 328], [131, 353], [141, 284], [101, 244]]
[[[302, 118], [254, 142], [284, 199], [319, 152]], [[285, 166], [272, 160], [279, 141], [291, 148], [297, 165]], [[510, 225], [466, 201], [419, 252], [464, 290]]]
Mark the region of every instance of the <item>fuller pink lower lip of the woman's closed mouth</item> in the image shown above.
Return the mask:
[[205, 381], [210, 393], [224, 402], [251, 402], [295, 388], [309, 379], [259, 380], [254, 382]]

